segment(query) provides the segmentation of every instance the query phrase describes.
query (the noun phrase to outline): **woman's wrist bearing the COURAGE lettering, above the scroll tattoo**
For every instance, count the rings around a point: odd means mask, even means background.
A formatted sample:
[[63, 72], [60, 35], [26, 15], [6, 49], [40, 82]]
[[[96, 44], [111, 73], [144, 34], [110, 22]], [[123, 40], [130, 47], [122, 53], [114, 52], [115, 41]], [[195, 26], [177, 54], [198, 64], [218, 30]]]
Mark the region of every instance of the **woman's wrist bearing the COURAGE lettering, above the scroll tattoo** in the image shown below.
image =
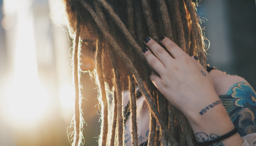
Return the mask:
[[196, 108], [194, 110], [189, 110], [187, 113], [184, 113], [194, 133], [203, 131], [210, 132], [213, 130], [212, 127], [214, 127], [216, 132], [223, 130], [222, 134], [234, 129], [234, 125], [225, 107], [222, 105], [220, 98], [217, 95], [211, 95], [211, 101], [204, 102], [203, 104], [201, 102], [200, 105], [195, 106]]

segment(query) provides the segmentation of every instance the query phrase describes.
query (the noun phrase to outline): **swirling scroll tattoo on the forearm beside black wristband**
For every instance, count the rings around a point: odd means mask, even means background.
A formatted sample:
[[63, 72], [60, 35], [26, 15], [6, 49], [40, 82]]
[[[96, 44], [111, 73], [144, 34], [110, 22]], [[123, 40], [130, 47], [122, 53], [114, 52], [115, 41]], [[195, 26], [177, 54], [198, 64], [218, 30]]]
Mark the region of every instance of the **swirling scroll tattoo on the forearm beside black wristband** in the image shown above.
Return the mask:
[[[207, 135], [206, 133], [198, 132], [195, 134], [195, 137], [198, 142], [207, 142], [207, 141], [214, 140], [214, 139], [218, 138], [219, 136], [216, 134]], [[225, 145], [221, 142], [216, 142], [214, 144], [211, 144], [210, 146], [225, 146]]]

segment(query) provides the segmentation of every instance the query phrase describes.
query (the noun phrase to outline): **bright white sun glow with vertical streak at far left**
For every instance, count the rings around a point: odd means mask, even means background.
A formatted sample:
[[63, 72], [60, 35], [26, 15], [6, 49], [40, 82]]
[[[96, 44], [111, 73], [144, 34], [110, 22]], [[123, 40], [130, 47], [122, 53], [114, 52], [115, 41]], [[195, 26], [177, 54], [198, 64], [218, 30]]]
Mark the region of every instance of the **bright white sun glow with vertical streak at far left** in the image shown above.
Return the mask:
[[[7, 1], [4, 1], [7, 2]], [[5, 113], [15, 123], [30, 124], [38, 120], [49, 104], [49, 94], [38, 79], [32, 1], [15, 1], [14, 69], [7, 85]], [[8, 5], [9, 4], [9, 5]], [[8, 0], [5, 7], [12, 6]], [[40, 118], [39, 118], [40, 119]]]

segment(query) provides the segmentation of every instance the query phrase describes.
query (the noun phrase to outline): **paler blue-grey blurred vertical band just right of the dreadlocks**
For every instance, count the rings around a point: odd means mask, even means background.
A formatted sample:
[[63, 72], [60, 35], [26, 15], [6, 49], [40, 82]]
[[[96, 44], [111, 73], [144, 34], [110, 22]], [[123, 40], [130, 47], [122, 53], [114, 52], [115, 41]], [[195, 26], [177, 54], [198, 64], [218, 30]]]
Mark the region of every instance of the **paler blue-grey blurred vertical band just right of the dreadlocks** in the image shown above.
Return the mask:
[[[233, 51], [229, 43], [229, 23], [227, 22], [226, 2], [221, 0], [202, 0], [198, 4], [197, 14], [202, 20], [205, 37], [210, 46], [207, 50], [207, 63], [212, 67], [234, 74]], [[206, 40], [206, 44], [209, 44]]]

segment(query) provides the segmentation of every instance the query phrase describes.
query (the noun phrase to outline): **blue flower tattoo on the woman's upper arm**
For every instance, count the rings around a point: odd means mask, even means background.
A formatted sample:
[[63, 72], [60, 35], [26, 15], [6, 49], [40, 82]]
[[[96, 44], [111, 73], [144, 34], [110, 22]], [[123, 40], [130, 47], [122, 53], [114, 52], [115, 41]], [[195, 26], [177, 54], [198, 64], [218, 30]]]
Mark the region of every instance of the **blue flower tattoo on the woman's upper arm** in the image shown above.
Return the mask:
[[256, 132], [256, 93], [248, 83], [236, 83], [228, 95], [219, 96], [241, 136]]

